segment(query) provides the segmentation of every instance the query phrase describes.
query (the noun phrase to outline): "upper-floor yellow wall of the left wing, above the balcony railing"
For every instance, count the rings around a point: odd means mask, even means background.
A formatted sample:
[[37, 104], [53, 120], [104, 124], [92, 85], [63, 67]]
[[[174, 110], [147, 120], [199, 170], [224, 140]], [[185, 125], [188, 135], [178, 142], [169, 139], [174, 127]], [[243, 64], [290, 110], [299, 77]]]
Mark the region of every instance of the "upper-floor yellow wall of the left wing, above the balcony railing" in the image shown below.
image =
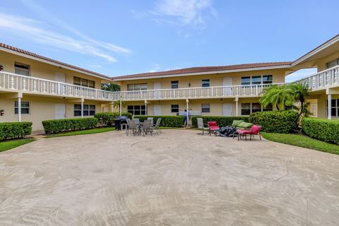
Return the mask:
[[43, 78], [48, 80], [55, 80], [56, 73], [64, 73], [66, 83], [73, 84], [73, 77], [80, 77], [95, 81], [95, 88], [101, 90], [102, 78], [89, 76], [85, 73], [71, 71], [69, 69], [60, 68], [51, 64], [46, 64], [40, 61], [29, 59], [27, 57], [20, 57], [16, 54], [0, 51], [0, 65], [4, 66], [4, 71], [15, 73], [15, 63], [27, 64], [30, 66], [30, 76]]

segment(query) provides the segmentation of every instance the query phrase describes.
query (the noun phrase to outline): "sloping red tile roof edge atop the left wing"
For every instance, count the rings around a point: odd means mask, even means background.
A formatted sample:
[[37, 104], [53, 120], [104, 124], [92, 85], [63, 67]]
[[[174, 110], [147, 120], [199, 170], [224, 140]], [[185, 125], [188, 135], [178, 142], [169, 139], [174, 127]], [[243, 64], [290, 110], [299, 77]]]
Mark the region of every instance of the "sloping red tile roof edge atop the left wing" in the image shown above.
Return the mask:
[[105, 76], [105, 75], [103, 75], [103, 74], [101, 74], [101, 73], [97, 73], [97, 72], [90, 71], [90, 70], [87, 70], [87, 69], [82, 69], [82, 68], [80, 68], [80, 67], [78, 67], [78, 66], [73, 66], [73, 65], [71, 65], [71, 64], [66, 64], [66, 63], [63, 63], [63, 62], [61, 62], [61, 61], [57, 61], [57, 60], [55, 60], [55, 59], [50, 59], [50, 58], [47, 58], [47, 57], [42, 57], [42, 56], [40, 56], [39, 54], [35, 54], [35, 53], [33, 53], [33, 52], [28, 52], [28, 51], [26, 51], [26, 50], [19, 49], [19, 48], [17, 48], [17, 47], [12, 47], [12, 46], [10, 46], [10, 45], [8, 45], [8, 44], [0, 43], [0, 47], [5, 48], [5, 49], [12, 50], [12, 51], [14, 51], [14, 52], [18, 52], [18, 53], [20, 53], [20, 54], [25, 54], [25, 55], [28, 55], [28, 56], [30, 56], [30, 57], [35, 57], [35, 58], [38, 58], [38, 59], [42, 59], [42, 60], [44, 60], [44, 61], [49, 61], [49, 62], [51, 62], [51, 63], [53, 63], [53, 64], [59, 64], [60, 66], [66, 66], [66, 67], [68, 67], [68, 68], [75, 69], [75, 70], [77, 70], [77, 71], [83, 71], [83, 73], [89, 73], [89, 74], [92, 74], [92, 75], [94, 75], [94, 76], [100, 76], [100, 77], [103, 77], [103, 78], [107, 78], [107, 79], [109, 79], [109, 80], [112, 80], [111, 77]]

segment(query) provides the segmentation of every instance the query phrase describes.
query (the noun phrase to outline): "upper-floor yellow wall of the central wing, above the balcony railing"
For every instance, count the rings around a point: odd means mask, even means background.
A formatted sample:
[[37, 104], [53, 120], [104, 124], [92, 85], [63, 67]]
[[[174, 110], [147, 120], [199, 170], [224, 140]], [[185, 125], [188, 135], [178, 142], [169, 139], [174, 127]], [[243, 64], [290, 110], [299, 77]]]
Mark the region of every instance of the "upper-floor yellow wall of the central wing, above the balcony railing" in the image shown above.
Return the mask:
[[[210, 79], [210, 86], [222, 86], [222, 78], [232, 78], [232, 85], [241, 85], [242, 76], [261, 76], [273, 75], [273, 83], [285, 82], [286, 69], [259, 70], [259, 71], [241, 71], [232, 73], [215, 73], [198, 76], [176, 76], [170, 78], [148, 78], [140, 80], [120, 82], [121, 91], [126, 91], [129, 84], [147, 83], [147, 89], [153, 90], [154, 83], [160, 83], [162, 89], [170, 89], [171, 81], [179, 81], [179, 88], [201, 87], [202, 79]], [[191, 84], [191, 85], [189, 85]]]

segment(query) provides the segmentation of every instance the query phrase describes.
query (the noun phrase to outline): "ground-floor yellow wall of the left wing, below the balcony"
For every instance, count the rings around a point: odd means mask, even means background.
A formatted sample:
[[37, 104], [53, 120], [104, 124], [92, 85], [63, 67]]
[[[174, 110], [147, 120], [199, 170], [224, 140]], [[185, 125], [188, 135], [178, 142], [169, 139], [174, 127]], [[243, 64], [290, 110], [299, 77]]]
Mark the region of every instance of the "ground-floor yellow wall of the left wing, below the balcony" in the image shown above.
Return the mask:
[[[4, 116], [0, 116], [0, 122], [18, 121], [18, 114], [14, 112], [16, 99], [4, 99], [0, 93], [0, 109], [4, 110]], [[66, 119], [74, 117], [74, 104], [60, 98], [23, 95], [22, 102], [30, 102], [30, 114], [21, 114], [21, 121], [32, 121], [32, 130], [43, 130], [42, 121], [55, 119], [55, 104], [64, 103], [66, 107]], [[95, 105], [95, 112], [102, 112], [102, 105], [98, 102], [84, 102], [84, 105]]]

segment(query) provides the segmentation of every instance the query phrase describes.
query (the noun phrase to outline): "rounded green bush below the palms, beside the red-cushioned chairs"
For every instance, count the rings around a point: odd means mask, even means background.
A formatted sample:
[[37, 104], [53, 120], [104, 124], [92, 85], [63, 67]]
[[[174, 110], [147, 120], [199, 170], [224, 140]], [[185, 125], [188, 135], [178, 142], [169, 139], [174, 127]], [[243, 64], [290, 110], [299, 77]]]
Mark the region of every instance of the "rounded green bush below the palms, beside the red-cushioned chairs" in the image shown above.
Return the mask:
[[249, 116], [249, 122], [262, 127], [262, 131], [268, 133], [291, 133], [298, 126], [298, 112], [268, 111], [255, 112]]

